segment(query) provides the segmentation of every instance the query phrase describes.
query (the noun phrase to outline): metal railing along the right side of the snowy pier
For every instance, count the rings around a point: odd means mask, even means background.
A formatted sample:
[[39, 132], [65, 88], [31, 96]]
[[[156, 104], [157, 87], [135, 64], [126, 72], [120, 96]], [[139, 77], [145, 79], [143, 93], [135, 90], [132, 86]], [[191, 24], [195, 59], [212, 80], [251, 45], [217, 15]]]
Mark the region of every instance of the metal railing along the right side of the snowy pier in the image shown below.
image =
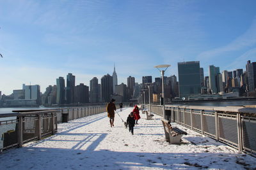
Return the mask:
[[[163, 116], [162, 106], [151, 111]], [[256, 156], [256, 108], [168, 105], [165, 112], [166, 120]]]

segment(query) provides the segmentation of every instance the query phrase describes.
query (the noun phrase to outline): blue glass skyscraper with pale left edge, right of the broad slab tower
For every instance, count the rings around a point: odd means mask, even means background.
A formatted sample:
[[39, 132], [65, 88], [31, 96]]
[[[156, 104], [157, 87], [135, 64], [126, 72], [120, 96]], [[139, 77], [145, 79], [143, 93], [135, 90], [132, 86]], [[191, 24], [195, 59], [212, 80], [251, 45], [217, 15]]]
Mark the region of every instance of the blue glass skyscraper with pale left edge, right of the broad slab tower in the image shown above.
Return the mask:
[[218, 89], [220, 89], [220, 78], [222, 82], [222, 76], [218, 76], [219, 73], [220, 67], [214, 67], [213, 65], [209, 66], [209, 85], [212, 94], [217, 94], [219, 92]]

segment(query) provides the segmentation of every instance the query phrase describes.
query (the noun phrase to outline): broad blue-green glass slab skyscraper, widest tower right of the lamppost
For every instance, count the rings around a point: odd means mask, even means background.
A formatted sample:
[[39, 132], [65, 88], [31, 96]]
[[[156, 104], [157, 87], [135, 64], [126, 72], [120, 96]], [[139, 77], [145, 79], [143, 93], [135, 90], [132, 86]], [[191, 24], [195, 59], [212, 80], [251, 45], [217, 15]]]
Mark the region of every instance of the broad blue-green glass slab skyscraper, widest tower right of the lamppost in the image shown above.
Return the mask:
[[190, 95], [200, 94], [200, 62], [178, 62], [178, 72], [180, 98], [185, 97], [185, 99], [188, 99]]

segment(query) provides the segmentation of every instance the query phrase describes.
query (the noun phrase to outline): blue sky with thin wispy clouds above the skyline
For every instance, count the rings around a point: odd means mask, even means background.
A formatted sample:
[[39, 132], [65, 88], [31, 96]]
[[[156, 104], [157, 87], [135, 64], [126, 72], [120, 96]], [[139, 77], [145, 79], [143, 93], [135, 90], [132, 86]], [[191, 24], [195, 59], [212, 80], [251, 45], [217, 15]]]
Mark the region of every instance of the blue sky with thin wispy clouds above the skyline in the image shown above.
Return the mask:
[[160, 76], [154, 66], [199, 60], [220, 70], [256, 61], [256, 1], [0, 0], [2, 94], [22, 83], [44, 92], [68, 73], [76, 84], [113, 73]]

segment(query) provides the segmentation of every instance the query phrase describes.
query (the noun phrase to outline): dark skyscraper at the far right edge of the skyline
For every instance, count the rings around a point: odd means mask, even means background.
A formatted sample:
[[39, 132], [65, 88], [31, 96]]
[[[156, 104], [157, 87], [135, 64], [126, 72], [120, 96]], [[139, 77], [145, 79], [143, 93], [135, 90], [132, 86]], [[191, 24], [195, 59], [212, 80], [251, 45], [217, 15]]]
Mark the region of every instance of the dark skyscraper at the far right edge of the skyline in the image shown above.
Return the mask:
[[248, 75], [249, 92], [255, 91], [256, 86], [256, 62], [247, 61], [246, 72]]

